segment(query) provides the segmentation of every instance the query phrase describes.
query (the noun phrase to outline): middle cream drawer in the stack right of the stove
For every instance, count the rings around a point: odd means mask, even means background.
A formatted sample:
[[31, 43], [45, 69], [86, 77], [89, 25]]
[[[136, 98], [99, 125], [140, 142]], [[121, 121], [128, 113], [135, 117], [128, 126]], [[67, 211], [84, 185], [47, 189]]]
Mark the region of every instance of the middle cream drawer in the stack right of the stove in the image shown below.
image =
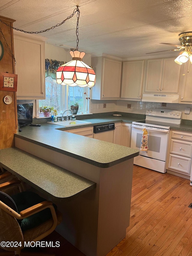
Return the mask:
[[170, 153], [191, 158], [192, 142], [171, 139]]

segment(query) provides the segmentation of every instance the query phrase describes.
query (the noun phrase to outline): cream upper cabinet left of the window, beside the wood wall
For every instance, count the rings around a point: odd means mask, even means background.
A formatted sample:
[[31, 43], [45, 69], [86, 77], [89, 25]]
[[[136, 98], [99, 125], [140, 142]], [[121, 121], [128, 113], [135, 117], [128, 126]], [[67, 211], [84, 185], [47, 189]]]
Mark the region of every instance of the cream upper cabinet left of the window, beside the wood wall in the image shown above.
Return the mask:
[[14, 32], [18, 99], [45, 99], [45, 39]]

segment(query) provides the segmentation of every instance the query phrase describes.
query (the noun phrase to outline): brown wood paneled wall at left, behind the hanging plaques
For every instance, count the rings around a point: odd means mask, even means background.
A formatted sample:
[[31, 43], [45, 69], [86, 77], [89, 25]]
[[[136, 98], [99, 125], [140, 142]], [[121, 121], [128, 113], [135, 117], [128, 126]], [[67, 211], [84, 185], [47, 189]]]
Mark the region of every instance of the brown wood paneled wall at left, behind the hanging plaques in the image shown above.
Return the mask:
[[[2, 17], [0, 19], [5, 23], [13, 26], [15, 20]], [[13, 30], [0, 22], [0, 28], [4, 34], [4, 37], [9, 45], [11, 51], [14, 54], [13, 47]], [[0, 72], [8, 72], [10, 74], [15, 74], [15, 65], [12, 55], [4, 42], [4, 38], [0, 33], [0, 41], [4, 47], [4, 55], [0, 60]], [[11, 104], [7, 105], [4, 103], [3, 99], [6, 95], [12, 97], [13, 101]], [[17, 112], [16, 112], [16, 92], [1, 91], [0, 90], [0, 149], [9, 148], [14, 146], [14, 134], [17, 129]]]

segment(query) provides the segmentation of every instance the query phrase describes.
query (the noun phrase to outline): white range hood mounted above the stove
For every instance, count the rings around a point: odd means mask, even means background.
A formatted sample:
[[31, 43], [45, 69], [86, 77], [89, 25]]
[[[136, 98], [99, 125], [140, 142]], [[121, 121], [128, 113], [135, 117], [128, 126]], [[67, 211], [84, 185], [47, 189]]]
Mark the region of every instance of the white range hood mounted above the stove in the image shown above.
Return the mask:
[[179, 103], [179, 95], [172, 94], [143, 94], [142, 101]]

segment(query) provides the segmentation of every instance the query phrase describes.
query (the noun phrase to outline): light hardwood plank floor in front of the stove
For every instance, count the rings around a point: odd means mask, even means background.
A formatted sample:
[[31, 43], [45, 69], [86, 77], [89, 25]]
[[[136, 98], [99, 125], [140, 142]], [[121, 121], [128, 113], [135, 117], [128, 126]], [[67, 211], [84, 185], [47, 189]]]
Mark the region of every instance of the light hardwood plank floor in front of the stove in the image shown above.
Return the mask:
[[106, 256], [191, 256], [190, 181], [134, 165], [126, 237]]

